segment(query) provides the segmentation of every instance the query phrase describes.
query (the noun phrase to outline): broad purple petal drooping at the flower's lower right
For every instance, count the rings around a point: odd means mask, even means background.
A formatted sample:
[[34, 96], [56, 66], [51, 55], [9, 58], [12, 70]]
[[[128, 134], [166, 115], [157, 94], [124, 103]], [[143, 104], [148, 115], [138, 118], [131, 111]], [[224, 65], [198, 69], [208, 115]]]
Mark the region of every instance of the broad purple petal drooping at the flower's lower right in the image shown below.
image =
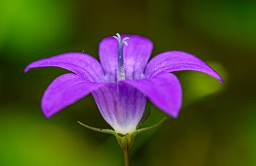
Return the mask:
[[177, 118], [179, 109], [182, 107], [182, 86], [173, 73], [163, 73], [156, 77], [141, 80], [125, 80], [119, 84], [134, 86], [159, 109]]

